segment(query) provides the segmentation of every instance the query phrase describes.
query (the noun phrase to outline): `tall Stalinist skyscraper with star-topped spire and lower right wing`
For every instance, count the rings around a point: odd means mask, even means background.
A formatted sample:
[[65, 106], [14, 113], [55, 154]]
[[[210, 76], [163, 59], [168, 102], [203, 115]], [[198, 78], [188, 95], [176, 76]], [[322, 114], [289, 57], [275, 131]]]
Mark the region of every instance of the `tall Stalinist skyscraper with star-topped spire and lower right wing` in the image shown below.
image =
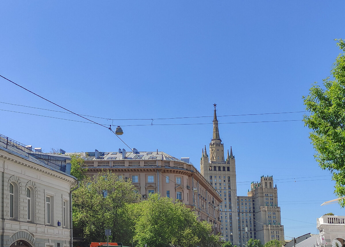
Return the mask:
[[252, 182], [247, 196], [237, 196], [235, 156], [230, 147], [230, 154], [227, 150], [224, 159], [216, 104], [214, 107], [209, 156], [205, 146], [200, 171], [223, 198], [219, 208], [222, 237], [237, 246], [246, 245], [250, 238], [259, 239], [262, 244], [273, 239], [284, 240], [284, 226], [281, 225], [277, 186], [273, 186], [273, 176], [261, 176], [260, 182]]

